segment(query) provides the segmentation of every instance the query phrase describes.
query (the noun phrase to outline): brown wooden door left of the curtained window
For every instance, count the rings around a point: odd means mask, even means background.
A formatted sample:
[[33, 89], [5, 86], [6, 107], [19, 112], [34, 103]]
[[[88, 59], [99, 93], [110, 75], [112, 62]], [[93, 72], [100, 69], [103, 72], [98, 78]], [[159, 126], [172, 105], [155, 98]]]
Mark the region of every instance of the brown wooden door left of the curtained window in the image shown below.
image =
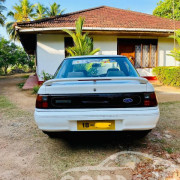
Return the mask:
[[135, 46], [134, 44], [119, 44], [118, 54], [126, 56], [135, 65]]

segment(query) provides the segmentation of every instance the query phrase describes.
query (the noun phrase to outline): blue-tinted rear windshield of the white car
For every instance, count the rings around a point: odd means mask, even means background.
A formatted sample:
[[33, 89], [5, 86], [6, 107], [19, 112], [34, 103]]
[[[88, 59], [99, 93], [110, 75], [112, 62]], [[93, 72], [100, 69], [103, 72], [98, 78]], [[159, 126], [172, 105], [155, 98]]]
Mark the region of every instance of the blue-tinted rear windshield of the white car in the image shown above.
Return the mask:
[[65, 59], [57, 72], [59, 78], [137, 77], [138, 73], [125, 57]]

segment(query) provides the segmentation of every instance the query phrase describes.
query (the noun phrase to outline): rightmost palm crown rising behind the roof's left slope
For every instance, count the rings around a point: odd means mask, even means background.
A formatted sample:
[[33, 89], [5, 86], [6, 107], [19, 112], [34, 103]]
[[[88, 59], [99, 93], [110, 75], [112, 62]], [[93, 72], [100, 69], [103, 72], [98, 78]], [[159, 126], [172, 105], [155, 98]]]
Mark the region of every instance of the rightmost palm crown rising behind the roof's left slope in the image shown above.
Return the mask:
[[57, 15], [61, 15], [65, 9], [61, 10], [60, 5], [57, 3], [53, 3], [50, 5], [50, 8], [47, 10], [47, 16], [48, 17], [54, 17]]

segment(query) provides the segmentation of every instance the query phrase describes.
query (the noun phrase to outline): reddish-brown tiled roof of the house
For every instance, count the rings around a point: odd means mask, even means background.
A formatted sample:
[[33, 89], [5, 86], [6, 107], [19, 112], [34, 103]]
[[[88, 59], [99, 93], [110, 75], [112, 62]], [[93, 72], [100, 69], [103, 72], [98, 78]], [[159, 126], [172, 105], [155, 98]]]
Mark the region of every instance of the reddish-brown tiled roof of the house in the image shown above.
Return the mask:
[[[130, 10], [101, 6], [53, 18], [17, 23], [19, 27], [52, 28], [74, 27], [78, 17], [84, 17], [84, 27], [92, 28], [142, 28], [142, 29], [180, 29], [180, 21], [173, 21]], [[175, 26], [174, 26], [175, 22]]]

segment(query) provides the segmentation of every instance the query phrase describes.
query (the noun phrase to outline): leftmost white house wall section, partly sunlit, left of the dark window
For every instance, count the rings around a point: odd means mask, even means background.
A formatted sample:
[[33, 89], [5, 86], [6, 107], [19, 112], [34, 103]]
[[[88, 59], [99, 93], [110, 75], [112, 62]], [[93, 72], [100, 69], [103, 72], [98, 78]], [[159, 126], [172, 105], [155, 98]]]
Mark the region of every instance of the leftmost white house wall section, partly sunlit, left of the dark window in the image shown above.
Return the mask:
[[42, 72], [53, 75], [64, 59], [64, 35], [37, 35], [37, 74], [42, 81]]

